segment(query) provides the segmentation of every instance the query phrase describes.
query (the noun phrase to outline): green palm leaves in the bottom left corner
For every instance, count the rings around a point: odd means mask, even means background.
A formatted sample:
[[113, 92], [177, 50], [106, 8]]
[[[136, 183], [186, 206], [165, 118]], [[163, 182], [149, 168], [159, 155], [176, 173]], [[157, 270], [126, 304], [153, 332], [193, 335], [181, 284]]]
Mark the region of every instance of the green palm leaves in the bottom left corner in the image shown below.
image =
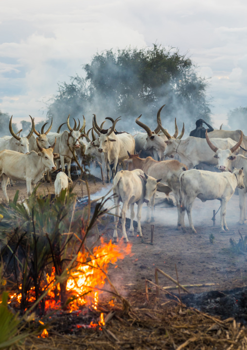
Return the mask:
[[24, 340], [28, 333], [19, 334], [20, 320], [18, 314], [8, 310], [8, 293], [3, 292], [0, 303], [0, 349], [8, 349]]

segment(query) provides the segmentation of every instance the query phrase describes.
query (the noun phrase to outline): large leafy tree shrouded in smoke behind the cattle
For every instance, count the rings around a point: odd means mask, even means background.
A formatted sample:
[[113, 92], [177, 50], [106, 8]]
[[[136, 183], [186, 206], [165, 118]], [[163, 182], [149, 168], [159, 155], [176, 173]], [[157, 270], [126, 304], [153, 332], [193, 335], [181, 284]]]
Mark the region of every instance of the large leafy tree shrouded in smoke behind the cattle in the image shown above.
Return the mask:
[[50, 101], [49, 118], [62, 123], [69, 114], [84, 114], [91, 120], [95, 113], [101, 121], [121, 115], [122, 125], [126, 120], [130, 130], [130, 124], [137, 128], [134, 121], [140, 114], [143, 122], [155, 126], [157, 111], [166, 104], [164, 125], [177, 117], [189, 131], [198, 118], [210, 121], [207, 81], [178, 50], [156, 44], [145, 49], [106, 50], [94, 55], [83, 70], [85, 78], [76, 75], [71, 83], [59, 84], [58, 94]]

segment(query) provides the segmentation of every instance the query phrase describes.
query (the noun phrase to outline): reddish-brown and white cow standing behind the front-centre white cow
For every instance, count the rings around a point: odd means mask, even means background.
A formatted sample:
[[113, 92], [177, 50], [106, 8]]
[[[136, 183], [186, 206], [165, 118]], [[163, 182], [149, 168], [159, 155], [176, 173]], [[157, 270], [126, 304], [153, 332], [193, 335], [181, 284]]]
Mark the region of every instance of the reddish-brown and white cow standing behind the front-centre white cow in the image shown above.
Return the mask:
[[[187, 166], [180, 163], [178, 160], [162, 160], [157, 161], [152, 157], [145, 159], [140, 158], [139, 155], [129, 155], [128, 163], [129, 170], [141, 169], [145, 174], [160, 178], [160, 182], [170, 188], [169, 192], [173, 192], [177, 205], [177, 226], [180, 224], [180, 208], [179, 208], [179, 176], [188, 170]], [[159, 191], [159, 190], [158, 190]], [[159, 191], [160, 192], [160, 191]], [[161, 191], [162, 192], [162, 191]], [[147, 213], [147, 221], [150, 222], [154, 218], [154, 196], [151, 198], [149, 210]], [[151, 211], [150, 211], [151, 206]]]

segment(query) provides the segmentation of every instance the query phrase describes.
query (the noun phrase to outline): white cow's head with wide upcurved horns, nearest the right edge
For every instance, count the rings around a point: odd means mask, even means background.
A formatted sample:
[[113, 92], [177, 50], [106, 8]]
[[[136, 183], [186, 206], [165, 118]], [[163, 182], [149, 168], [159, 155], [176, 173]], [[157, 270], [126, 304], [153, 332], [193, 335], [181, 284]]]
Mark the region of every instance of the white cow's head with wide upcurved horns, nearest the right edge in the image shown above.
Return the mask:
[[218, 169], [220, 171], [225, 172], [226, 170], [228, 170], [228, 168], [231, 168], [230, 162], [237, 158], [235, 155], [233, 155], [233, 153], [237, 151], [237, 149], [241, 145], [241, 142], [243, 140], [243, 132], [241, 131], [241, 133], [242, 134], [240, 136], [240, 139], [235, 146], [231, 147], [230, 149], [228, 148], [226, 150], [222, 150], [212, 144], [208, 136], [208, 131], [206, 130], [207, 143], [209, 147], [212, 149], [212, 151], [215, 152], [214, 158], [218, 159]]

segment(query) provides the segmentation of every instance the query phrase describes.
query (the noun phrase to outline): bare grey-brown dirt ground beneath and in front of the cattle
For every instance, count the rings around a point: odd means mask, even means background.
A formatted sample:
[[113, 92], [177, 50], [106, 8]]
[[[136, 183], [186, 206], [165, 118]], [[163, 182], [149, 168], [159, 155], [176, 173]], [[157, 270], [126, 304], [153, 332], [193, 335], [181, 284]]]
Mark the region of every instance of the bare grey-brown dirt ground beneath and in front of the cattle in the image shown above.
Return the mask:
[[[89, 181], [91, 193], [96, 193], [103, 188], [100, 181]], [[107, 188], [109, 185], [105, 185]], [[26, 197], [26, 184], [18, 182], [15, 187], [8, 187], [7, 193], [13, 199], [16, 191], [19, 190], [19, 198]], [[81, 186], [75, 185], [74, 191], [82, 196]], [[83, 185], [83, 192], [86, 195], [86, 187]], [[54, 184], [42, 183], [38, 193], [54, 193]], [[1, 198], [0, 190], [0, 198]], [[190, 292], [202, 292], [209, 290], [224, 290], [240, 287], [247, 281], [247, 255], [235, 255], [229, 251], [229, 238], [239, 240], [239, 233], [247, 234], [247, 226], [237, 224], [239, 218], [238, 196], [233, 195], [227, 207], [227, 223], [229, 232], [219, 233], [219, 213], [216, 215], [216, 226], [212, 227], [212, 212], [216, 211], [220, 202], [208, 201], [202, 203], [195, 200], [193, 209], [194, 226], [197, 234], [182, 233], [176, 231], [176, 207], [156, 208], [154, 243], [150, 244], [151, 225], [144, 222], [145, 215], [142, 215], [143, 240], [136, 234], [130, 238], [132, 243], [133, 256], [126, 256], [119, 261], [117, 269], [110, 268], [110, 276], [113, 283], [120, 292], [144, 291], [145, 279], [155, 282], [155, 267], [168, 273], [176, 279], [175, 264], [178, 278], [181, 284], [206, 284], [214, 283], [210, 287], [189, 288]], [[145, 211], [145, 208], [144, 208]], [[188, 221], [187, 221], [188, 225]], [[121, 227], [119, 225], [119, 227]], [[128, 233], [128, 223], [126, 230]], [[210, 243], [209, 235], [215, 236], [214, 244]], [[112, 237], [113, 225], [107, 230], [107, 238]], [[121, 236], [121, 230], [119, 230]], [[117, 272], [117, 273], [116, 273]], [[172, 286], [163, 276], [159, 276], [159, 284]]]

